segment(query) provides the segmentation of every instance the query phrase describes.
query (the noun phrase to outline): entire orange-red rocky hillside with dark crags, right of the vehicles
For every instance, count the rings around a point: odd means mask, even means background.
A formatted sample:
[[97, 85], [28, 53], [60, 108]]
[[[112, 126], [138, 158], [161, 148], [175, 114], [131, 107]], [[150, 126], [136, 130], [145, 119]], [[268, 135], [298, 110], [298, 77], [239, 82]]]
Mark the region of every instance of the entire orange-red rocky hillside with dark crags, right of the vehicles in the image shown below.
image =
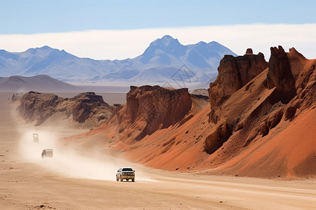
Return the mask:
[[[271, 48], [269, 62], [249, 50], [225, 56], [210, 84], [209, 105], [190, 100], [186, 90], [131, 87], [128, 103], [88, 135], [103, 134], [112, 150], [159, 169], [315, 177], [315, 64], [280, 46]], [[147, 102], [154, 108], [141, 106]], [[164, 102], [164, 117], [150, 126], [146, 117], [156, 119]]]

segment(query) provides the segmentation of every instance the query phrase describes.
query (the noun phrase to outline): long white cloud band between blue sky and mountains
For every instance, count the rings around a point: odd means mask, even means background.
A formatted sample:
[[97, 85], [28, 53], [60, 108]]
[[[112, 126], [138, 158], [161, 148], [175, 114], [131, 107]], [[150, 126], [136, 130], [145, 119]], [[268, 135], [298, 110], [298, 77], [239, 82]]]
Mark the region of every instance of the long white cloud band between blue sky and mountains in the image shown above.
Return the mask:
[[52, 34], [0, 34], [0, 48], [22, 52], [48, 45], [64, 49], [78, 57], [125, 59], [136, 57], [156, 38], [169, 34], [187, 45], [199, 41], [217, 41], [243, 55], [246, 48], [270, 57], [270, 47], [295, 47], [305, 57], [316, 58], [316, 24], [306, 25], [227, 25], [133, 30], [73, 31]]

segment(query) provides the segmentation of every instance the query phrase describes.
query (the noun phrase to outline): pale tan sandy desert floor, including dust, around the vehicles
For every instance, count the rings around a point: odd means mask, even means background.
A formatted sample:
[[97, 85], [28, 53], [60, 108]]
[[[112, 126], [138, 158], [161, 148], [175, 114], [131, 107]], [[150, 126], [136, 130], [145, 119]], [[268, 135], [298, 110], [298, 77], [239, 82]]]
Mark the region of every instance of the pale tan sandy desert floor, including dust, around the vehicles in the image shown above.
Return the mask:
[[[58, 146], [59, 137], [84, 130], [17, 123], [12, 94], [0, 92], [0, 209], [316, 209], [315, 180], [164, 172], [100, 148]], [[41, 159], [43, 148], [53, 148], [54, 158]], [[136, 170], [136, 182], [115, 181], [124, 166]]]

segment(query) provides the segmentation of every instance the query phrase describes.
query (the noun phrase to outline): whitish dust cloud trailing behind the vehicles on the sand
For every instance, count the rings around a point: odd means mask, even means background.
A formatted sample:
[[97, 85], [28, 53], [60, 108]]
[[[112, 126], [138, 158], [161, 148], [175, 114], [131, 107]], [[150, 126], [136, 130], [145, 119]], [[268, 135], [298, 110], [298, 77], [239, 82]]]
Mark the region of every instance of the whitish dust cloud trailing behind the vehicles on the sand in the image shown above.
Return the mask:
[[[98, 154], [91, 151], [92, 155], [82, 155], [74, 148], [63, 148], [57, 144], [60, 132], [43, 130], [38, 127], [24, 127], [20, 139], [20, 154], [27, 162], [35, 163], [53, 173], [62, 176], [71, 176], [83, 179], [98, 179], [115, 181], [115, 174], [119, 167], [133, 167], [136, 171], [136, 181], [154, 181], [144, 172], [143, 167], [120, 160], [110, 155]], [[33, 141], [32, 134], [39, 134], [39, 142]], [[64, 129], [63, 134], [67, 134]], [[41, 151], [46, 148], [53, 149], [53, 158], [41, 158]]]

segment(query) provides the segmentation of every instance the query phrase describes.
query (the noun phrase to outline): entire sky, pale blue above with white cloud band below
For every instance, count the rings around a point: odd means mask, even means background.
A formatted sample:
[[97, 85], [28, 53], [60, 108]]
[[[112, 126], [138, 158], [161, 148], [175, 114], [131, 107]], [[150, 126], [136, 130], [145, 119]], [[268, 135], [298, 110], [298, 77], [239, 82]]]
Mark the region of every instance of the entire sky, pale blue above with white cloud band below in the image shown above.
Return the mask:
[[11, 0], [0, 3], [0, 49], [49, 45], [78, 57], [136, 57], [168, 34], [187, 45], [217, 41], [243, 55], [294, 47], [316, 58], [316, 1]]

